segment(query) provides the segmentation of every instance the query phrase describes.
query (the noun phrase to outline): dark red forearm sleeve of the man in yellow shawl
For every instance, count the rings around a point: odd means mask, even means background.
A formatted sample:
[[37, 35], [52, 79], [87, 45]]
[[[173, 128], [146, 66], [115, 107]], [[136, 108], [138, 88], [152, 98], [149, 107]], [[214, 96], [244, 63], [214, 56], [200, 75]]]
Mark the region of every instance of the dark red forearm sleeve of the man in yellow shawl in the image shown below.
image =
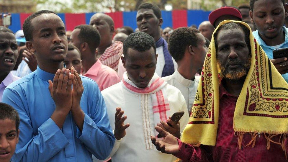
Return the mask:
[[179, 153], [175, 154], [177, 158], [180, 158], [182, 161], [202, 161], [208, 162], [213, 161], [209, 146], [201, 145], [200, 147], [193, 147], [192, 145], [182, 143], [178, 139], [179, 143]]

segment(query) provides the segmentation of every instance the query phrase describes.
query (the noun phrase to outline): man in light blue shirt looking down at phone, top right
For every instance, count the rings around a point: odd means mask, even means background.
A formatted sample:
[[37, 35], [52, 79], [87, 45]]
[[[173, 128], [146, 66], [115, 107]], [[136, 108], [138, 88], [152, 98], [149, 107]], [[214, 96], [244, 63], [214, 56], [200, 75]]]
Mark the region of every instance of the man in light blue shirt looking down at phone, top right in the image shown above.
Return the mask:
[[284, 0], [250, 0], [250, 18], [257, 30], [253, 36], [266, 55], [288, 83], [287, 58], [273, 59], [272, 51], [288, 47], [288, 29], [284, 27], [288, 15], [288, 4]]

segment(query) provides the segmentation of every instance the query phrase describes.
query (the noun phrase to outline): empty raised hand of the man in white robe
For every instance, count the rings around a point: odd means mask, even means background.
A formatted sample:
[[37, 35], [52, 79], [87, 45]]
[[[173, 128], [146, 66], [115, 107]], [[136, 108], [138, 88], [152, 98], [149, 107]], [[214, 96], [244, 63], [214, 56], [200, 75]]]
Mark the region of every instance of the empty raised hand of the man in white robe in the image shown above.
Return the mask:
[[121, 138], [125, 137], [126, 128], [130, 126], [130, 124], [124, 125], [124, 121], [127, 119], [127, 116], [125, 115], [124, 117], [122, 117], [123, 114], [124, 111], [121, 110], [120, 107], [117, 107], [115, 113], [115, 130], [114, 130], [114, 136], [117, 140], [120, 140]]

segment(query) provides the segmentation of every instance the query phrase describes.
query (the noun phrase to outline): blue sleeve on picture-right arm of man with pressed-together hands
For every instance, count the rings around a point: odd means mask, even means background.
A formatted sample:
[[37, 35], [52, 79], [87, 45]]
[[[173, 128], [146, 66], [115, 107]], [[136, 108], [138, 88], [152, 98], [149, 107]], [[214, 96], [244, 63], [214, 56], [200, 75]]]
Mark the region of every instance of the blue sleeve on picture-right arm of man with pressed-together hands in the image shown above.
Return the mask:
[[113, 148], [115, 137], [110, 127], [106, 104], [96, 83], [89, 96], [93, 97], [91, 103], [91, 116], [85, 114], [82, 132], [77, 127], [77, 138], [81, 140], [87, 150], [96, 158], [104, 160]]

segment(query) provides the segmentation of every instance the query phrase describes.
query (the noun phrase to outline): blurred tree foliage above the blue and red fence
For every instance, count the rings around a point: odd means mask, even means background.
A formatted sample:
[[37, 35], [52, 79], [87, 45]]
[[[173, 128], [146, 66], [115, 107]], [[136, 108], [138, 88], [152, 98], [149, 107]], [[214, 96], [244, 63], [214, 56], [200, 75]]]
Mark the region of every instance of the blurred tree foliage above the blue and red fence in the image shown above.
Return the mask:
[[[202, 0], [201, 9], [211, 10], [205, 6], [207, 0]], [[37, 9], [49, 9], [54, 12], [115, 12], [115, 11], [135, 11], [141, 3], [149, 2], [157, 4], [164, 9], [165, 4], [172, 4], [173, 9], [187, 9], [187, 0], [36, 0]], [[249, 3], [249, 0], [209, 0], [212, 9], [219, 5], [233, 5]]]

